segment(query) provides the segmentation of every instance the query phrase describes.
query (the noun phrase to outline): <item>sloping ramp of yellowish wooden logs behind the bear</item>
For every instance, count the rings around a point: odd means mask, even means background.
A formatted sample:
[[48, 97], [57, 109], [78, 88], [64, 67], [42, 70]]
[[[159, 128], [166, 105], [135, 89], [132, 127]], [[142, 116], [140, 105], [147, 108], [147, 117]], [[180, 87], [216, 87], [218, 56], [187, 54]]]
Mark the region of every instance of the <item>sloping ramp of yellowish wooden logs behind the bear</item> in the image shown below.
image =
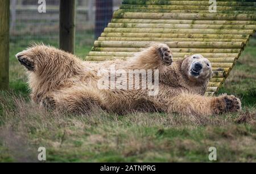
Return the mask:
[[200, 53], [212, 62], [206, 95], [213, 95], [254, 34], [256, 0], [217, 0], [217, 13], [209, 6], [209, 0], [123, 0], [86, 60], [126, 59], [163, 42], [175, 60]]

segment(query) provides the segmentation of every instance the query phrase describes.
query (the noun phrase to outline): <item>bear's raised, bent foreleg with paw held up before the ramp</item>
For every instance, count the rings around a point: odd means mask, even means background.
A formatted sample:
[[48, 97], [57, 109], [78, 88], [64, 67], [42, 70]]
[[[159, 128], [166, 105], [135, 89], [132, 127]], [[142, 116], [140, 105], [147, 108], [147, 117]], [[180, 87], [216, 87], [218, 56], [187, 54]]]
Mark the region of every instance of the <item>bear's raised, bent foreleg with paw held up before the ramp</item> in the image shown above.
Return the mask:
[[134, 69], [160, 69], [172, 64], [172, 52], [167, 44], [156, 43], [138, 53], [132, 62]]

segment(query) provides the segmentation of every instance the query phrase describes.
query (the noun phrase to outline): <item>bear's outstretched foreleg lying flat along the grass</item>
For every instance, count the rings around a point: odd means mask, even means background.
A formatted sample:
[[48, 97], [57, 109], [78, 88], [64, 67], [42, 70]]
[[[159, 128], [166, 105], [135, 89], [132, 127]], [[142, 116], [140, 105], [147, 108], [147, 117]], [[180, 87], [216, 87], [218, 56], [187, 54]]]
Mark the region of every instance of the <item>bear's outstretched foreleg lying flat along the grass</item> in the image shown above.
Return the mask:
[[[151, 100], [152, 101], [152, 100]], [[181, 93], [176, 97], [155, 96], [154, 104], [168, 113], [214, 115], [241, 110], [241, 101], [234, 96], [205, 97]]]

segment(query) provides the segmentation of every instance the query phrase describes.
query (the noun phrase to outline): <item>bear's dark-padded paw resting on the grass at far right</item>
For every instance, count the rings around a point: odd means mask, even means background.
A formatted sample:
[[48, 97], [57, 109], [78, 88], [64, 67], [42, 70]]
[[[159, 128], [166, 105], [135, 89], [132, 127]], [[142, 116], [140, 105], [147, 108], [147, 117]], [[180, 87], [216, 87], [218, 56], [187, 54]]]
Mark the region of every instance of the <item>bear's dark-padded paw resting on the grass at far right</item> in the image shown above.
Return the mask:
[[240, 111], [241, 109], [241, 101], [239, 98], [235, 96], [224, 95], [217, 99], [215, 113], [234, 113]]

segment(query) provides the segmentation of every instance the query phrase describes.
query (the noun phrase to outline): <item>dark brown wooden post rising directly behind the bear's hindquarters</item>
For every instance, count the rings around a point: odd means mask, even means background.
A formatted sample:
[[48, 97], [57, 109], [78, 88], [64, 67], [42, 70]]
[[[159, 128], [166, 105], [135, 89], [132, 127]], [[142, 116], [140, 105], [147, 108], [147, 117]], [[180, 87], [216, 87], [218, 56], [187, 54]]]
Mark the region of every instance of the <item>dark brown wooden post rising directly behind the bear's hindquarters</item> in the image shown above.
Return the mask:
[[60, 0], [60, 49], [75, 53], [76, 0]]

